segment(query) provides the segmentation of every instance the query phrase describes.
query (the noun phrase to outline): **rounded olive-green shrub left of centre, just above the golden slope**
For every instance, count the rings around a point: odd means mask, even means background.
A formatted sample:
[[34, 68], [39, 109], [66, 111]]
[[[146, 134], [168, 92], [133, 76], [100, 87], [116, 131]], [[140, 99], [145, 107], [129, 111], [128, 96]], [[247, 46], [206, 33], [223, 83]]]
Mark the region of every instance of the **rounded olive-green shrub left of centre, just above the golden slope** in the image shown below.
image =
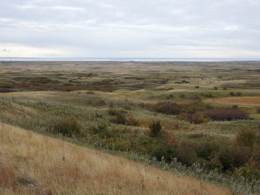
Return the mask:
[[54, 126], [55, 133], [71, 137], [78, 135], [80, 132], [80, 125], [75, 116], [68, 116], [58, 121]]

